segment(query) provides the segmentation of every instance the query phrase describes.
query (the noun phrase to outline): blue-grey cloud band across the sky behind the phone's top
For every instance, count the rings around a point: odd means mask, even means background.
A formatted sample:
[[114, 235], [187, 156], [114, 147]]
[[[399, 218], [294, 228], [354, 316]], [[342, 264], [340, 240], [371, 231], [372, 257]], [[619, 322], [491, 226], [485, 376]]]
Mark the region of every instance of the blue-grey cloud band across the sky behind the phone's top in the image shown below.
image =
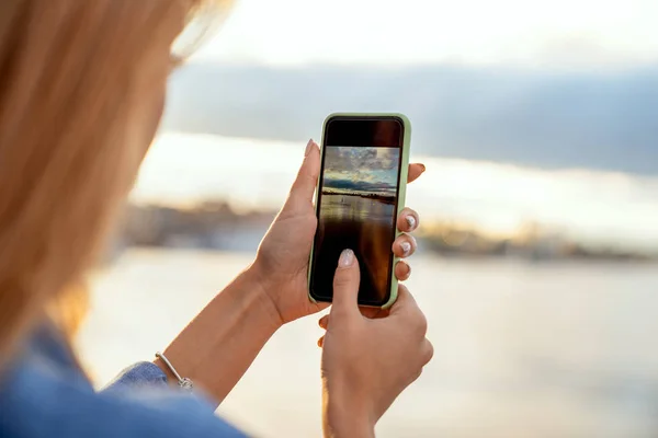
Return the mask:
[[189, 65], [172, 77], [168, 99], [163, 130], [302, 143], [331, 112], [396, 111], [411, 119], [415, 154], [658, 174], [658, 65]]

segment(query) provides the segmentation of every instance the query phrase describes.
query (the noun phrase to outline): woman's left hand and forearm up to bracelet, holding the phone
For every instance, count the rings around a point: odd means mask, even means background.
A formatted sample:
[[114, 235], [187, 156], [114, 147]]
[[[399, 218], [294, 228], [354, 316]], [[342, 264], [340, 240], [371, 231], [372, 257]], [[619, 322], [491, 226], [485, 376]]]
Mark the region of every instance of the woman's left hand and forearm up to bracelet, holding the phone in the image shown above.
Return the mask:
[[[282, 323], [328, 306], [314, 304], [308, 299], [306, 285], [317, 222], [313, 194], [319, 171], [319, 149], [309, 141], [288, 199], [261, 242], [253, 265], [226, 286], [164, 350], [177, 370], [217, 403], [234, 388]], [[411, 164], [409, 181], [423, 171], [422, 164]], [[405, 209], [397, 224], [408, 232], [413, 231], [418, 222], [418, 215]], [[415, 250], [416, 242], [405, 234], [393, 245], [393, 252], [399, 257], [411, 255]], [[401, 280], [409, 277], [406, 263], [397, 264], [396, 275]], [[160, 360], [156, 364], [175, 385], [177, 379], [167, 366]], [[217, 372], [218, 364], [222, 372]]]

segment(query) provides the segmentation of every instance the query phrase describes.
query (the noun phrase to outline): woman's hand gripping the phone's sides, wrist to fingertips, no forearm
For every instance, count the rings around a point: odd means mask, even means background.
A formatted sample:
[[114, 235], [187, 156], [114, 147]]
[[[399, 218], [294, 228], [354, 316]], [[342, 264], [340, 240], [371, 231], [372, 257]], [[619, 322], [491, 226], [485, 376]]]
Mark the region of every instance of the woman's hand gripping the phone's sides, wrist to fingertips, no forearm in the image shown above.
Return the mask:
[[[410, 164], [408, 182], [418, 178], [424, 172], [424, 165]], [[288, 198], [274, 219], [270, 230], [258, 250], [251, 267], [263, 289], [271, 298], [281, 323], [326, 309], [328, 303], [314, 303], [308, 299], [308, 260], [317, 227], [314, 193], [320, 173], [320, 150], [310, 140], [297, 178], [291, 188]], [[400, 231], [416, 230], [419, 217], [416, 211], [405, 208], [397, 220]], [[398, 257], [408, 257], [416, 251], [416, 240], [401, 234], [393, 244]], [[409, 265], [399, 261], [395, 266], [398, 279], [409, 278]]]

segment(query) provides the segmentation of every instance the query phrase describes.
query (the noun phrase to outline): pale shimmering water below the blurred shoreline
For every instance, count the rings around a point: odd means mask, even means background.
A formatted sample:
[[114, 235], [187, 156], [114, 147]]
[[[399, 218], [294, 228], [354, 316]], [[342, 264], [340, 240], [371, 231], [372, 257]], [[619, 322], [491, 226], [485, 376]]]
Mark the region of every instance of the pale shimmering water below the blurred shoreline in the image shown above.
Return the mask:
[[[152, 359], [251, 260], [133, 249], [97, 272], [77, 341], [97, 385]], [[428, 253], [411, 265], [435, 354], [377, 436], [658, 436], [657, 265]], [[319, 318], [275, 333], [217, 414], [258, 437], [320, 436]]]

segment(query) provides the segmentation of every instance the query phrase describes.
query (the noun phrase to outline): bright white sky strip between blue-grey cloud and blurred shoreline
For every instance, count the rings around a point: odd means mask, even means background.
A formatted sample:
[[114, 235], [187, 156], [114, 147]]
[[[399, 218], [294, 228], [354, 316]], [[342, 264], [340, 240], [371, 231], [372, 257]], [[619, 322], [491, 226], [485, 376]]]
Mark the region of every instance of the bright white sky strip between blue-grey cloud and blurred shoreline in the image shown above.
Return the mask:
[[[224, 198], [239, 209], [277, 209], [304, 157], [303, 142], [164, 134], [139, 175], [134, 199], [189, 204]], [[423, 218], [512, 233], [527, 221], [580, 242], [658, 251], [658, 177], [588, 170], [535, 170], [415, 157], [426, 174], [407, 205]]]

